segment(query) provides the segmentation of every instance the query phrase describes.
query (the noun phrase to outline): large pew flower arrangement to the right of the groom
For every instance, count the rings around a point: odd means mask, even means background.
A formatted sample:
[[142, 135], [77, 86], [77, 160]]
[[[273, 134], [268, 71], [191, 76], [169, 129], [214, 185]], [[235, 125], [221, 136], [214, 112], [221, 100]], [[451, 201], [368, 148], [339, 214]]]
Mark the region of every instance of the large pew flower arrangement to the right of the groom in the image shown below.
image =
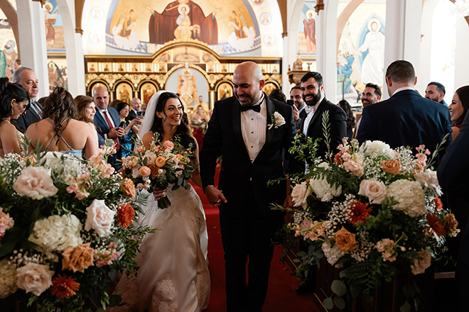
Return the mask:
[[[327, 121], [323, 115], [326, 143]], [[419, 302], [414, 276], [424, 273], [432, 258], [441, 260], [446, 239], [459, 232], [438, 197], [436, 172], [427, 164], [430, 152], [421, 145], [414, 156], [409, 147], [393, 150], [380, 141], [359, 146], [357, 140], [348, 145], [345, 138], [337, 153], [321, 159], [314, 157], [318, 140], [296, 138], [290, 152], [308, 162], [310, 171], [291, 177], [293, 208], [272, 205], [293, 211], [293, 222], [282, 229], [290, 233], [287, 243], [299, 238], [309, 245], [308, 252], [298, 253], [297, 277], [323, 257], [341, 268], [333, 296], [323, 301], [328, 309], [345, 308], [345, 299], [360, 294], [372, 301], [373, 289], [397, 277], [406, 298], [400, 311], [411, 311]]]

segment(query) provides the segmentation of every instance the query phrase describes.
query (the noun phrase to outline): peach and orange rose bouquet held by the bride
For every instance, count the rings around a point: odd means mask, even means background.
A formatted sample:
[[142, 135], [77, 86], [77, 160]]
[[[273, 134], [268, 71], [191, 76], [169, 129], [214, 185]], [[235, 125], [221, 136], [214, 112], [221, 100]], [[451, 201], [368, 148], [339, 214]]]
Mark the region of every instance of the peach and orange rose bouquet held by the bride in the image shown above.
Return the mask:
[[[195, 165], [190, 161], [193, 155], [192, 143], [186, 149], [180, 144], [178, 136], [163, 143], [158, 137], [156, 133], [149, 150], [141, 142], [136, 142], [136, 152], [122, 157], [122, 167], [131, 170], [129, 177], [134, 180], [139, 191], [145, 189], [151, 193], [154, 188], [168, 189], [169, 184], [173, 184], [173, 190], [179, 186], [188, 189], [188, 180], [195, 170]], [[169, 206], [171, 201], [167, 196], [158, 201], [158, 208]]]

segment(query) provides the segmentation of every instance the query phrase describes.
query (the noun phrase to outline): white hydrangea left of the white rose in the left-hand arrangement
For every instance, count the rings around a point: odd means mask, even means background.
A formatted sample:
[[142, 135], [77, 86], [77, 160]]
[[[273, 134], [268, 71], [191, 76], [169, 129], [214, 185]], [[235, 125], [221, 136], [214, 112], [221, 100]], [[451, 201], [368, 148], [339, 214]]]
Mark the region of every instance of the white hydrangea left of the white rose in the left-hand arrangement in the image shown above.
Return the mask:
[[82, 244], [82, 224], [74, 215], [50, 216], [34, 223], [28, 240], [41, 246], [45, 251], [63, 252]]

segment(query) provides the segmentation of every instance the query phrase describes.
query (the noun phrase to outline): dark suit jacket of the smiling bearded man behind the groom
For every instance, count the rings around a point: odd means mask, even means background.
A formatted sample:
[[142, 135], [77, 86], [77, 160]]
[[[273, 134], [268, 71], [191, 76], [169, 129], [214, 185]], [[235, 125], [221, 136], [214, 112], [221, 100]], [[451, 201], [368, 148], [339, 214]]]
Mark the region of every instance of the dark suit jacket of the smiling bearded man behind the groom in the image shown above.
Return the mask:
[[[323, 131], [323, 112], [329, 111], [329, 123], [330, 123], [330, 151], [334, 154], [337, 151], [338, 145], [342, 143], [342, 138], [347, 135], [347, 115], [345, 111], [340, 108], [340, 106], [335, 105], [328, 101], [327, 99], [323, 99], [320, 102], [318, 109], [314, 113], [313, 118], [308, 126], [308, 138], [313, 138], [316, 140], [317, 138], [321, 138], [318, 152], [316, 153], [316, 157], [324, 157], [325, 153], [328, 152], [328, 147], [325, 145], [325, 138], [324, 138], [324, 131]], [[301, 111], [300, 118], [301, 121], [298, 121], [298, 129], [301, 130], [303, 133], [303, 129], [305, 127], [306, 121], [306, 111]]]

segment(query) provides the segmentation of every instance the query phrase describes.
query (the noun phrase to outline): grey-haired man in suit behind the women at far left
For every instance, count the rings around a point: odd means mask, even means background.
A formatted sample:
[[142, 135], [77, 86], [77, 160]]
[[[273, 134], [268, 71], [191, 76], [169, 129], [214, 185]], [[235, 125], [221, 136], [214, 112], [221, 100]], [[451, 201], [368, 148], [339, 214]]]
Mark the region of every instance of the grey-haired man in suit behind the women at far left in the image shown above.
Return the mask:
[[13, 74], [13, 82], [21, 84], [21, 86], [28, 91], [29, 95], [29, 105], [26, 111], [14, 121], [16, 127], [24, 133], [31, 124], [37, 123], [43, 119], [43, 106], [34, 101], [34, 98], [36, 98], [39, 93], [39, 81], [33, 69], [20, 67], [16, 69], [16, 72]]

